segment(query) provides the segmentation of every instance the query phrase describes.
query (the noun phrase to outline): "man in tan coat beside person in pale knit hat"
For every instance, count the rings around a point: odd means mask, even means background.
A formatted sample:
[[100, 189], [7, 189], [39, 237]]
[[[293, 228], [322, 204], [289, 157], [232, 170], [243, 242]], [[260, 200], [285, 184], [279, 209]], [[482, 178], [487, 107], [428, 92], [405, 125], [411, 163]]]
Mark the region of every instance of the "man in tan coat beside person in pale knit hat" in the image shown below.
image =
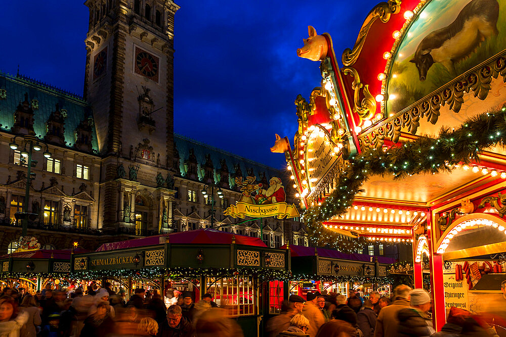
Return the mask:
[[411, 306], [409, 303], [409, 292], [411, 292], [411, 288], [405, 284], [400, 284], [395, 287], [395, 301], [388, 307], [382, 308], [381, 311], [379, 311], [374, 337], [390, 337], [397, 335], [397, 327], [399, 325], [397, 313]]

